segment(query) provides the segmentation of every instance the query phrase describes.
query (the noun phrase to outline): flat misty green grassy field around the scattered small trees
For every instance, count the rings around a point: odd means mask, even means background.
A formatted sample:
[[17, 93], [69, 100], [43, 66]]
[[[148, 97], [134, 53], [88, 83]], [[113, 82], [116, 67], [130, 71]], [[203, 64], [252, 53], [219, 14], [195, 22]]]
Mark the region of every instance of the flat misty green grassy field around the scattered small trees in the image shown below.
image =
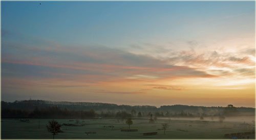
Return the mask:
[[[40, 128], [38, 128], [38, 121], [40, 122]], [[47, 131], [46, 125], [49, 119], [30, 119], [30, 122], [20, 122], [14, 119], [2, 119], [1, 121], [1, 138], [10, 139], [52, 139], [53, 136]], [[60, 124], [72, 123], [76, 121], [69, 121], [64, 119], [57, 120]], [[85, 121], [84, 126], [61, 126], [63, 133], [59, 133], [55, 138], [72, 138], [72, 139], [106, 139], [106, 138], [125, 138], [125, 139], [223, 139], [226, 133], [237, 133], [252, 131], [252, 127], [241, 128], [234, 127], [238, 122], [224, 121], [219, 123], [215, 121], [200, 121], [195, 120], [181, 120], [172, 119], [170, 122], [168, 119], [158, 119], [156, 123], [148, 123], [147, 119], [133, 119], [133, 125], [131, 129], [138, 129], [138, 132], [121, 132], [121, 129], [128, 129], [128, 125], [123, 122], [117, 122], [116, 119], [90, 119], [79, 120], [79, 124]], [[248, 120], [248, 124], [252, 123]], [[157, 130], [162, 127], [162, 123], [168, 123], [169, 127], [164, 134], [163, 130]], [[113, 125], [114, 128], [104, 128], [104, 126]], [[96, 134], [87, 135], [86, 131], [96, 131]], [[158, 132], [157, 135], [143, 135], [145, 132]], [[255, 138], [253, 134], [249, 138]]]

